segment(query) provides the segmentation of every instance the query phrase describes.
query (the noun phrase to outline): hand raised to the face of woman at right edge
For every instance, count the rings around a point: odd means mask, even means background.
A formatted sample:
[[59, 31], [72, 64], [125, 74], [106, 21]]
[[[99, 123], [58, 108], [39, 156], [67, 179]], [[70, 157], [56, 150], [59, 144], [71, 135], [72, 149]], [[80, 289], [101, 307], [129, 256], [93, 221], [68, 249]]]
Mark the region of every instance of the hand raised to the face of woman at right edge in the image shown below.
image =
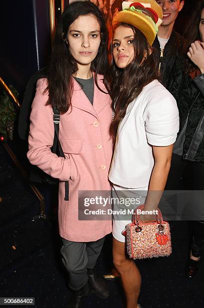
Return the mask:
[[187, 56], [199, 68], [201, 73], [204, 73], [204, 43], [195, 41], [190, 45]]

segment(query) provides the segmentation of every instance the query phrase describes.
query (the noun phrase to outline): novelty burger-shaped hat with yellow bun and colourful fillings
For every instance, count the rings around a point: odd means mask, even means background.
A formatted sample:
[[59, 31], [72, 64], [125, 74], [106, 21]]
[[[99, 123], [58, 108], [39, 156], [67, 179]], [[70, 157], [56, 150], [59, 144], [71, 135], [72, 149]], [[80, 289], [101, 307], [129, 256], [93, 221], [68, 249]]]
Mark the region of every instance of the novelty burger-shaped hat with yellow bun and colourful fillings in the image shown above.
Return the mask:
[[158, 26], [162, 23], [162, 10], [155, 0], [123, 2], [123, 10], [118, 12], [112, 21], [113, 27], [118, 23], [127, 23], [139, 29], [152, 45]]

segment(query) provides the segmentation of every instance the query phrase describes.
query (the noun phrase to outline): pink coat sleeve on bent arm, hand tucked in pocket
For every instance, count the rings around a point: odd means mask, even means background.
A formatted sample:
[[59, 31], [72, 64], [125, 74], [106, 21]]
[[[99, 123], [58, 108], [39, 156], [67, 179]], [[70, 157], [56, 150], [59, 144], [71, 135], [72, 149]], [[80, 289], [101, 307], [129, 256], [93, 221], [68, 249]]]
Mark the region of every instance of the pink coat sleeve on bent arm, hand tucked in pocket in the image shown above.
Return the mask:
[[48, 93], [44, 94], [46, 87], [47, 81], [40, 79], [32, 104], [27, 156], [32, 165], [38, 166], [53, 178], [69, 181], [70, 159], [58, 157], [51, 151], [54, 140], [54, 122], [52, 106], [47, 105]]

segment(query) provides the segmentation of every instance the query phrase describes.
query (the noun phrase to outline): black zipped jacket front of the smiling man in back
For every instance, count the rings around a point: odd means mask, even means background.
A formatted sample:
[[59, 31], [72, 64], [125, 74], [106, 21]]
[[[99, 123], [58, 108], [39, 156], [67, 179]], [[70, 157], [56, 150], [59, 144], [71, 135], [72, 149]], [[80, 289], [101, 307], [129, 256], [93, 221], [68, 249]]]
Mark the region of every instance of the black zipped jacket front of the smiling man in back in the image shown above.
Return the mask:
[[182, 54], [182, 46], [184, 43], [183, 37], [175, 31], [172, 31], [168, 42], [163, 50], [160, 48], [158, 38], [156, 36], [153, 48], [155, 61], [160, 68], [160, 78], [162, 84], [168, 89], [168, 80], [172, 72], [176, 57]]

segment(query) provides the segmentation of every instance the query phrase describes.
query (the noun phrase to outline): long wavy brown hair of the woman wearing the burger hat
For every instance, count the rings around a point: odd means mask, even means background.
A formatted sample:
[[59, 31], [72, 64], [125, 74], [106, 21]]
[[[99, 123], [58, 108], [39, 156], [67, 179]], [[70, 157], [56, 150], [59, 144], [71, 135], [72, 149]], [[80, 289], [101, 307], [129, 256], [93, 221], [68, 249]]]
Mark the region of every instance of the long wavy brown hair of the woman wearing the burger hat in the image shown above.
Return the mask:
[[[129, 27], [133, 30], [134, 58], [124, 69], [118, 68], [114, 60], [112, 60], [109, 68], [109, 93], [112, 99], [112, 108], [115, 112], [110, 126], [110, 134], [114, 140], [116, 139], [118, 125], [124, 118], [128, 105], [138, 97], [144, 86], [159, 77], [154, 51], [151, 53], [152, 48], [142, 32], [126, 23], [120, 23], [118, 26]], [[145, 52], [147, 58], [143, 61]]]

